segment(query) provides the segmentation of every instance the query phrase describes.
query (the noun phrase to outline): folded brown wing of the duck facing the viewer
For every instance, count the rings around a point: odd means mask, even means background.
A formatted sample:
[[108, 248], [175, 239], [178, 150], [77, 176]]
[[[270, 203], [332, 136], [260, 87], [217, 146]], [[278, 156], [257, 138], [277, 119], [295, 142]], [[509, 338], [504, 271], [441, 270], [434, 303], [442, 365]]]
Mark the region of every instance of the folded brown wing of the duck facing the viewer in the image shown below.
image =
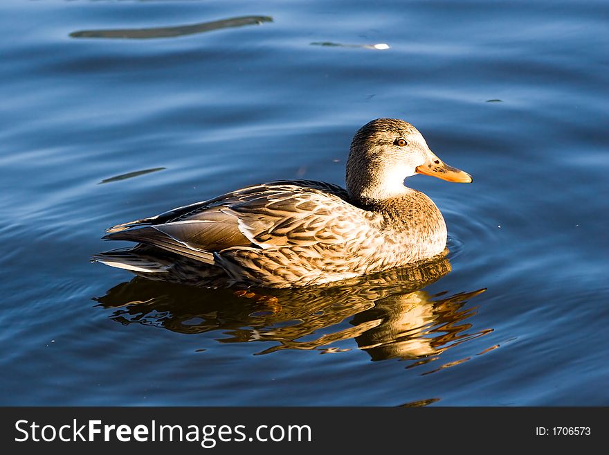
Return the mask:
[[212, 264], [231, 247], [337, 244], [365, 233], [379, 215], [347, 192], [316, 181], [275, 181], [114, 226], [104, 239], [131, 240]]

